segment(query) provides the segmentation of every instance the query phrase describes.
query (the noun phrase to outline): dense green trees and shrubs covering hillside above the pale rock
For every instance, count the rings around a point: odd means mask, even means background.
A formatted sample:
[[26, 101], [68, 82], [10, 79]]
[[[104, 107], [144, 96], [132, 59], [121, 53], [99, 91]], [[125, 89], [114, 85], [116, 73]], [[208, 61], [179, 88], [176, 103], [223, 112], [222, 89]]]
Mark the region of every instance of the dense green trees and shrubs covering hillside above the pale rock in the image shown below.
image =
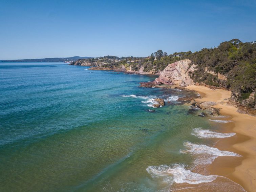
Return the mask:
[[[157, 57], [159, 55], [161, 57]], [[197, 64], [197, 69], [190, 73], [190, 77], [195, 82], [230, 89], [235, 100], [240, 103], [254, 93], [254, 99], [247, 105], [255, 108], [256, 41], [243, 43], [239, 39], [232, 39], [220, 43], [215, 48], [203, 48], [193, 53], [175, 52], [169, 56], [163, 55], [162, 50], [158, 50], [151, 54], [151, 63], [144, 69], [162, 71], [168, 64], [183, 59], [190, 59], [192, 63]], [[218, 79], [206, 69], [226, 76], [227, 81]]]

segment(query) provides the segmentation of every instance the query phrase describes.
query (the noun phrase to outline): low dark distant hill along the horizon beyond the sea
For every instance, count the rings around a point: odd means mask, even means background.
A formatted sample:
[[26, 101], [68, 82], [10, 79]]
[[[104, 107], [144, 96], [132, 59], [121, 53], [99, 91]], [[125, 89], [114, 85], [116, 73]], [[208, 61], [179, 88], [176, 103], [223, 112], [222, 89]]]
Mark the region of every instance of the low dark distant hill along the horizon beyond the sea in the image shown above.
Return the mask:
[[56, 58], [44, 58], [44, 59], [15, 59], [15, 60], [0, 60], [0, 62], [72, 62], [78, 59], [90, 59], [92, 57], [56, 57]]

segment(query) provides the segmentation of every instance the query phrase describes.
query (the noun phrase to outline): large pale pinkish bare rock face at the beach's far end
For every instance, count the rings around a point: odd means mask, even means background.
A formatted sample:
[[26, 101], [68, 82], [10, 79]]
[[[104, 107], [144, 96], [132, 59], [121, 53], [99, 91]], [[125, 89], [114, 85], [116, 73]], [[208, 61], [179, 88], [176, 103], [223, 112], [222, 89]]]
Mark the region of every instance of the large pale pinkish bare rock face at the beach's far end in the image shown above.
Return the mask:
[[194, 85], [194, 81], [189, 77], [189, 71], [193, 72], [196, 65], [192, 64], [189, 59], [177, 61], [169, 64], [155, 79], [156, 83], [178, 85], [179, 87], [186, 87]]

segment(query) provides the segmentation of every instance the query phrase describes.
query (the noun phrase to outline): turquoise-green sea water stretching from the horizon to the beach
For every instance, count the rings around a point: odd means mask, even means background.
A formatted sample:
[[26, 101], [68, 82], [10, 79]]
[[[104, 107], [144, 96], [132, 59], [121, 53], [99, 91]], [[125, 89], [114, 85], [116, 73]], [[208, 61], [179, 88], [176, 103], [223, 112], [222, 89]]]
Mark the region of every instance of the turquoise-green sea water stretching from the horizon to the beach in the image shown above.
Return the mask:
[[[175, 101], [197, 93], [139, 87], [154, 76], [85, 69], [0, 63], [0, 191], [172, 189], [147, 168], [192, 170], [184, 141], [213, 145], [191, 132], [218, 124]], [[155, 97], [172, 103], [152, 108]]]

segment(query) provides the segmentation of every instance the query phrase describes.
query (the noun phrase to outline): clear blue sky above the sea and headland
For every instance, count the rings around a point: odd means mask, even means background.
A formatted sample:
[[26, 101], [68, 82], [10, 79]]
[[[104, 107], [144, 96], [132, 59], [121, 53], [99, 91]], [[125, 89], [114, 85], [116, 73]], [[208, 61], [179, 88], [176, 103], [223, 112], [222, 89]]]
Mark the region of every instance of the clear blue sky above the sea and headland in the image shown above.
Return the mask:
[[256, 40], [256, 1], [0, 0], [0, 60], [141, 56]]

